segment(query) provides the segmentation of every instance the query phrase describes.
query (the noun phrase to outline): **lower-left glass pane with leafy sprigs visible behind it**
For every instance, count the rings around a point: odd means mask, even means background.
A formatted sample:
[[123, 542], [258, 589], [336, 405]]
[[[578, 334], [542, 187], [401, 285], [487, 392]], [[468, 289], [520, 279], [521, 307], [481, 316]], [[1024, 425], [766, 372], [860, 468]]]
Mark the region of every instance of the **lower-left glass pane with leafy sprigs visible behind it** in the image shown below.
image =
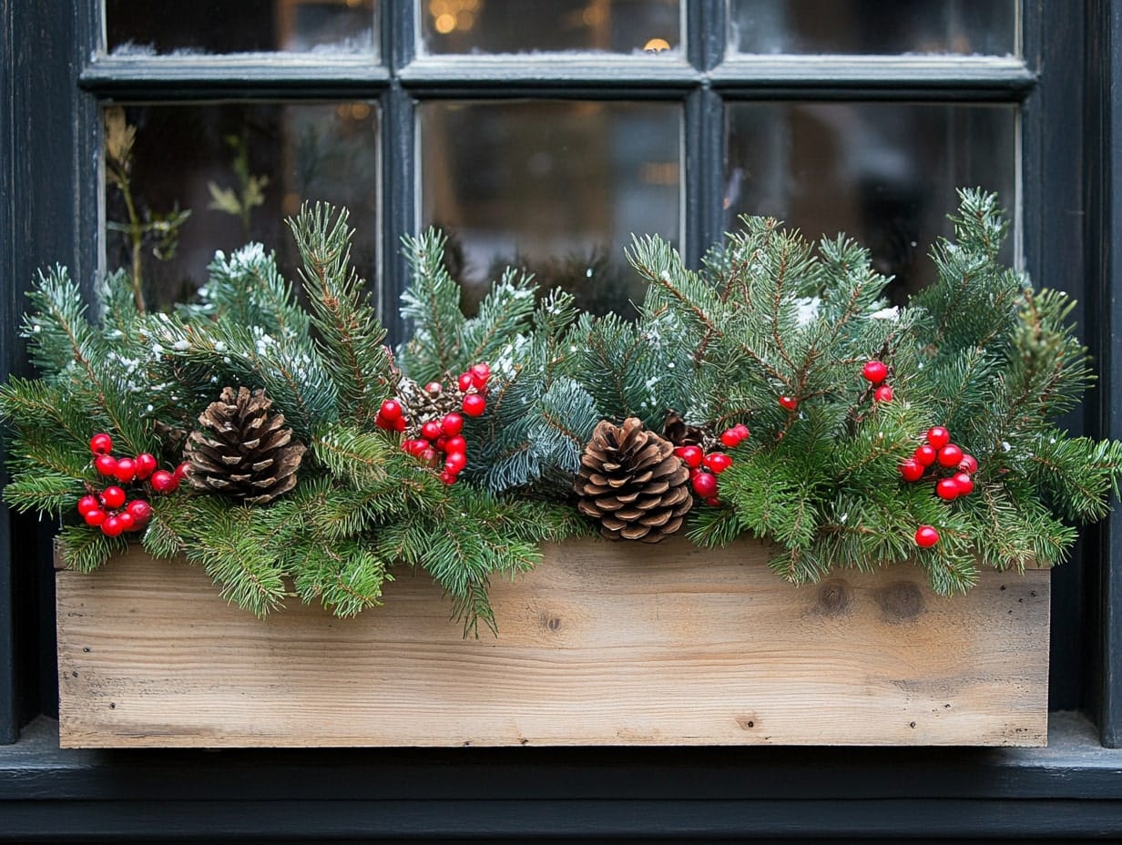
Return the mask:
[[275, 250], [282, 274], [295, 282], [300, 258], [285, 218], [304, 201], [323, 200], [350, 210], [351, 258], [364, 278], [374, 279], [376, 108], [107, 109], [107, 266], [138, 269], [149, 309], [188, 298], [205, 281], [215, 250], [229, 255], [251, 240]]

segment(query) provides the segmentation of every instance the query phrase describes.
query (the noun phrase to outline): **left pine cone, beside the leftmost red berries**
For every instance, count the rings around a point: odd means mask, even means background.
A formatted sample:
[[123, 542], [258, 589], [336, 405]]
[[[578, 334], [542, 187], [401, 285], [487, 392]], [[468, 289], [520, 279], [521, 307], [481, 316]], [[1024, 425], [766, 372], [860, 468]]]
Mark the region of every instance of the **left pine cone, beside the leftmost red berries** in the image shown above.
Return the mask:
[[250, 505], [264, 505], [296, 486], [305, 447], [285, 429], [284, 414], [270, 414], [265, 391], [222, 388], [218, 402], [199, 416], [183, 457], [196, 490], [222, 493]]

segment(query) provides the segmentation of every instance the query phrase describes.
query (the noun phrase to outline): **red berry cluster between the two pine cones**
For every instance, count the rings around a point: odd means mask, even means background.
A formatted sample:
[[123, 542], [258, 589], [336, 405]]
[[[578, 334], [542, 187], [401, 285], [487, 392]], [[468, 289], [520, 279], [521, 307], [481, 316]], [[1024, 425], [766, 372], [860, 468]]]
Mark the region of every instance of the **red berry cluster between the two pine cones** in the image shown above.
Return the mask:
[[[460, 401], [463, 415], [479, 416], [487, 410], [487, 398], [484, 391], [490, 378], [490, 367], [476, 364], [467, 373], [461, 373], [457, 379], [460, 392], [465, 394]], [[440, 382], [431, 382], [424, 386], [430, 396], [439, 396], [444, 386]], [[440, 457], [444, 456], [444, 467], [440, 480], [447, 485], [456, 484], [460, 472], [468, 466], [468, 444], [463, 439], [463, 415], [456, 412], [444, 414], [440, 420], [429, 420], [421, 424], [419, 438], [405, 440], [402, 449], [430, 467], [440, 466]], [[387, 431], [403, 432], [408, 426], [402, 403], [397, 399], [386, 399], [378, 411], [376, 424]]]

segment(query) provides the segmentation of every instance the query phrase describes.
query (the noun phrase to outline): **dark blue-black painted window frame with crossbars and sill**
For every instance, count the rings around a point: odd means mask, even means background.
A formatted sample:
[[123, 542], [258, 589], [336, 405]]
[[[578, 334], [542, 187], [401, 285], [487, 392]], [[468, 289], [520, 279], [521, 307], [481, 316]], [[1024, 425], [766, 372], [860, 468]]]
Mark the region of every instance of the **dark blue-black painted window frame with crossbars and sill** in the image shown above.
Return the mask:
[[[723, 104], [735, 99], [1017, 102], [1026, 269], [1067, 287], [1100, 382], [1073, 424], [1122, 438], [1122, 2], [1021, 0], [1023, 62], [726, 59], [724, 2], [688, 0], [684, 56], [499, 66], [416, 56], [408, 0], [383, 0], [384, 64], [99, 53], [95, 0], [0, 0], [0, 349], [24, 292], [99, 269], [100, 109], [108, 101], [377, 99], [381, 278], [415, 231], [414, 109], [441, 98], [679, 101], [686, 255], [720, 235]], [[52, 7], [52, 8], [48, 8]], [[1114, 147], [1118, 141], [1120, 148]], [[1115, 241], [1120, 241], [1116, 246]], [[396, 312], [387, 324], [401, 337]], [[1047, 750], [515, 748], [77, 752], [57, 748], [49, 540], [0, 508], [0, 841], [132, 837], [1092, 836], [1122, 833], [1122, 512], [1052, 579]]]

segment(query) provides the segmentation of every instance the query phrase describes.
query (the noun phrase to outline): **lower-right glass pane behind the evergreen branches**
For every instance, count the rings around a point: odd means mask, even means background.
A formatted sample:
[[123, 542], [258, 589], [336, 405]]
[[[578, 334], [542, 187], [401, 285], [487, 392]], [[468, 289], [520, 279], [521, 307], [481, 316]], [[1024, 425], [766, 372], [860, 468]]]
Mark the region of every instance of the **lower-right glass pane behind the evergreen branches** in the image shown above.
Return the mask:
[[1014, 105], [733, 104], [725, 228], [767, 214], [813, 238], [844, 231], [902, 296], [935, 277], [927, 255], [950, 235], [956, 187], [996, 191], [1015, 211], [1017, 123]]

